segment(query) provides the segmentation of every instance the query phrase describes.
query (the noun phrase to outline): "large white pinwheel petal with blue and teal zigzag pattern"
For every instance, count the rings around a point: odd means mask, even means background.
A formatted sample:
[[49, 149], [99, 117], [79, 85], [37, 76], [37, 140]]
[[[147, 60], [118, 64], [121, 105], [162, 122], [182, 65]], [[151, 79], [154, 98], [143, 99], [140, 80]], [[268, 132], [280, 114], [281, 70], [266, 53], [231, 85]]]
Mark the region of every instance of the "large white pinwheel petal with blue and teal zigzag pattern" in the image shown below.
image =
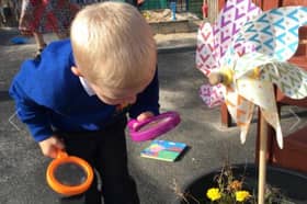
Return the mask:
[[255, 52], [286, 61], [297, 49], [298, 29], [303, 25], [307, 25], [306, 7], [273, 9], [245, 24], [235, 44], [248, 42]]

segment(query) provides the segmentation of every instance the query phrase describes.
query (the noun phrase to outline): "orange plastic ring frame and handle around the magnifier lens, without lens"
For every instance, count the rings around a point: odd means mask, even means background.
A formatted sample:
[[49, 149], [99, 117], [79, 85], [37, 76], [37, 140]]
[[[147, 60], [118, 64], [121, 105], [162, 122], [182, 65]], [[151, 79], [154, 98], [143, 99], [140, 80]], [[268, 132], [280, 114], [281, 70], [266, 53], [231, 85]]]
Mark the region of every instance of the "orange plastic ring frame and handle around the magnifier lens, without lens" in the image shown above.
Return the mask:
[[[55, 170], [57, 169], [57, 167], [59, 167], [62, 163], [75, 163], [79, 167], [81, 167], [86, 174], [87, 174], [87, 179], [83, 183], [81, 183], [80, 185], [65, 185], [62, 183], [60, 183], [56, 178], [55, 178]], [[93, 169], [92, 167], [83, 159], [79, 158], [79, 157], [73, 157], [73, 156], [68, 156], [68, 154], [66, 151], [58, 151], [57, 158], [54, 159], [48, 168], [47, 168], [47, 172], [46, 172], [46, 180], [47, 183], [49, 184], [49, 186], [56, 191], [59, 194], [64, 194], [64, 195], [77, 195], [77, 194], [81, 194], [83, 192], [86, 192], [92, 181], [93, 181], [94, 174], [93, 174]]]

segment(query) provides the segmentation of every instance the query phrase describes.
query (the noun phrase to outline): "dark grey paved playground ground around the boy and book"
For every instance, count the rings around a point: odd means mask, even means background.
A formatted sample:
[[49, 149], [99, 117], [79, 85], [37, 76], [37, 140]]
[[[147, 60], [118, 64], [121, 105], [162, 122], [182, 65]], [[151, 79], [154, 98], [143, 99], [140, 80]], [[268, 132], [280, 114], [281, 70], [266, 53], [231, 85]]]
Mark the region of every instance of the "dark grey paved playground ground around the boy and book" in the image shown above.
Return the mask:
[[[10, 38], [16, 35], [15, 30], [0, 30], [0, 203], [56, 204], [58, 195], [45, 180], [50, 160], [42, 156], [25, 126], [14, 116], [14, 104], [7, 93], [21, 63], [35, 53], [33, 39], [12, 45]], [[185, 143], [189, 149], [178, 161], [164, 162], [139, 156], [149, 141], [136, 144], [127, 139], [129, 168], [143, 204], [177, 203], [180, 192], [198, 175], [221, 167], [227, 160], [231, 163], [254, 160], [255, 123], [251, 125], [247, 143], [240, 145], [237, 127], [220, 126], [219, 107], [208, 109], [203, 104], [198, 87], [206, 79], [195, 69], [196, 35], [186, 36], [191, 37], [181, 36], [180, 41], [179, 36], [169, 36], [172, 42], [164, 36], [164, 43], [160, 36], [157, 42], [161, 111], [178, 111], [182, 118], [181, 124], [161, 139]], [[47, 35], [48, 42], [54, 38]], [[283, 110], [285, 135], [307, 124], [305, 110], [291, 109], [300, 121], [297, 123], [288, 107]]]

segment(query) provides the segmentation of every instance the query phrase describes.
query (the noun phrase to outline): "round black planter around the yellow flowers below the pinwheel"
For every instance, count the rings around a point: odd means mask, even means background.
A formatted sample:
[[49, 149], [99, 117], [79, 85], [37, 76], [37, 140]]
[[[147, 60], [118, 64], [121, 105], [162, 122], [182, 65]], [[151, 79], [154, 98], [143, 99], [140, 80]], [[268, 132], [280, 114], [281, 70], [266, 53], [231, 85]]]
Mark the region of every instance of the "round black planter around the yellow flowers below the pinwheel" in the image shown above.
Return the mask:
[[[201, 203], [211, 203], [206, 197], [206, 191], [215, 184], [214, 178], [220, 172], [219, 170], [204, 174], [195, 179], [184, 188], [184, 192], [193, 195]], [[232, 173], [236, 179], [245, 177], [245, 189], [250, 192], [258, 191], [258, 167], [254, 165], [236, 165], [232, 166]], [[266, 168], [266, 183], [272, 188], [277, 188], [287, 201], [295, 204], [307, 204], [307, 175], [298, 172], [276, 168]], [[190, 196], [186, 197], [190, 204], [197, 203]], [[178, 203], [186, 204], [184, 200]]]

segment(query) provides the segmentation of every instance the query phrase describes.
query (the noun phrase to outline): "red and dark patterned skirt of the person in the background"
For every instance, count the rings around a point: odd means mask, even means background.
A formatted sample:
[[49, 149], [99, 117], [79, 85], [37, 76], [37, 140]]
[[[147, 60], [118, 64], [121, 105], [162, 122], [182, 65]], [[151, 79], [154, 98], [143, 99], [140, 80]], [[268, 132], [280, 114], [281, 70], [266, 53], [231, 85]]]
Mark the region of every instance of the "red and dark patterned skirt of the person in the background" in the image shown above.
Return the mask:
[[68, 33], [78, 11], [69, 0], [23, 0], [19, 29], [23, 34]]

